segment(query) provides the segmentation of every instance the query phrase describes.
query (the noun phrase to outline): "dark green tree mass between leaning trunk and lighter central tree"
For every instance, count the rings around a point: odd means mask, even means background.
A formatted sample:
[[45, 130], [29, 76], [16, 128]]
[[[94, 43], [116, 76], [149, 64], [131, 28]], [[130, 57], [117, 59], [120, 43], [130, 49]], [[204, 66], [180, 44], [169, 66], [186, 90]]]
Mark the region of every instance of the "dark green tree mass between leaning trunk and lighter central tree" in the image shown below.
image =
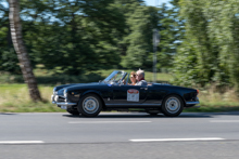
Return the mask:
[[124, 19], [112, 1], [23, 1], [22, 6], [29, 17], [24, 39], [35, 63], [71, 75], [120, 63], [114, 37]]

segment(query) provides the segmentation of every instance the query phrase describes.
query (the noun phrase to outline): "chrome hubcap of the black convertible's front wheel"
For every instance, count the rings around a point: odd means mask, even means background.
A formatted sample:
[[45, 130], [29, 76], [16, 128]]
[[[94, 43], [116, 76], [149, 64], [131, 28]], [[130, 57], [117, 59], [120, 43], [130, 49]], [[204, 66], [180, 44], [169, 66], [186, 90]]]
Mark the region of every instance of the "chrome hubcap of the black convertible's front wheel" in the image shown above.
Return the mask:
[[83, 101], [83, 109], [87, 114], [95, 114], [99, 108], [99, 103], [98, 100], [95, 98], [93, 96], [86, 97]]

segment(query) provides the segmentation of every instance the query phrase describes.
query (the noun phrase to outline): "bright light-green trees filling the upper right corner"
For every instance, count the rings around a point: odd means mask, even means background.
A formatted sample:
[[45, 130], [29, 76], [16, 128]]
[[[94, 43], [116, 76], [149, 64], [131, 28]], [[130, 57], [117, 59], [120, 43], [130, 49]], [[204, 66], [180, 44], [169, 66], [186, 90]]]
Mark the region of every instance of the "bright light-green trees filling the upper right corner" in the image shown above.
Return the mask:
[[175, 57], [177, 82], [239, 84], [239, 1], [181, 0], [186, 35]]

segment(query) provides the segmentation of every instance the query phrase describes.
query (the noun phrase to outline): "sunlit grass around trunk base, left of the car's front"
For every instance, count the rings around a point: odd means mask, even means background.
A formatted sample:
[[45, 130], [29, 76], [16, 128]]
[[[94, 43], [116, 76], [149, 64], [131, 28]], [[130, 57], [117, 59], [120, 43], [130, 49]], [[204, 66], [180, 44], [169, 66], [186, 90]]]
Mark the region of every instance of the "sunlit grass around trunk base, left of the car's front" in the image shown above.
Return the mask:
[[63, 111], [51, 104], [53, 87], [39, 85], [45, 102], [30, 101], [26, 84], [0, 84], [0, 112], [54, 112]]

